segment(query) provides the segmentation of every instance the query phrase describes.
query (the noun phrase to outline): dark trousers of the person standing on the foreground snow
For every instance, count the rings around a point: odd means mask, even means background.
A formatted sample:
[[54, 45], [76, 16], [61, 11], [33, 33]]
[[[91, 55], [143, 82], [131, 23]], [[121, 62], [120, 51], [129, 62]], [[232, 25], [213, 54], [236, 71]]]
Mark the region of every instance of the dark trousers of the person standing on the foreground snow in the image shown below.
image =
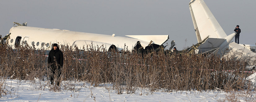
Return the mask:
[[50, 65], [50, 69], [51, 69], [51, 72], [50, 72], [51, 84], [54, 83], [54, 75], [56, 74], [57, 75], [56, 81], [57, 81], [57, 85], [59, 86], [60, 85], [60, 75], [61, 75], [60, 66]]

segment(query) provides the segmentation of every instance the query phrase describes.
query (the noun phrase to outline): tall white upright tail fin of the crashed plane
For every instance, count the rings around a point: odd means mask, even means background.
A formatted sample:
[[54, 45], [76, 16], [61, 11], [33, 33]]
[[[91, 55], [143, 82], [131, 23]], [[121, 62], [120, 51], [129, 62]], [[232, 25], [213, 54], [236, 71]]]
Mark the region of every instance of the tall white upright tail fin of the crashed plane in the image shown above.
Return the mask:
[[208, 35], [210, 38], [225, 38], [227, 36], [204, 0], [191, 0], [189, 8], [198, 43]]

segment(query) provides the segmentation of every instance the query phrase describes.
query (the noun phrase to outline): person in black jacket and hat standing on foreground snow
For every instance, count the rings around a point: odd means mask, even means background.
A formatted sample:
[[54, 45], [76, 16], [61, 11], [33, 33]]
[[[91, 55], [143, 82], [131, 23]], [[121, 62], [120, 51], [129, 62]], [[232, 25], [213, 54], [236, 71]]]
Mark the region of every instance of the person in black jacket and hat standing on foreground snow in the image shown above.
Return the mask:
[[50, 81], [51, 84], [54, 83], [54, 74], [57, 74], [57, 85], [60, 85], [60, 68], [63, 66], [63, 53], [60, 51], [58, 44], [54, 43], [52, 50], [49, 52], [48, 55], [48, 66], [51, 69], [50, 73]]

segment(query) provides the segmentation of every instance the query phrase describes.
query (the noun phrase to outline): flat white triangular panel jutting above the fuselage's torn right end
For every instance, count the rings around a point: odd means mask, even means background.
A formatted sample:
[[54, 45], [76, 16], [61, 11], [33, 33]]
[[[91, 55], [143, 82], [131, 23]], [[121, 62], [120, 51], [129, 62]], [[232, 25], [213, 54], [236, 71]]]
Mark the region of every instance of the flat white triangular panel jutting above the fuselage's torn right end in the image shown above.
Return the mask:
[[126, 35], [135, 39], [140, 39], [143, 41], [153, 41], [155, 44], [162, 45], [169, 39], [169, 35]]

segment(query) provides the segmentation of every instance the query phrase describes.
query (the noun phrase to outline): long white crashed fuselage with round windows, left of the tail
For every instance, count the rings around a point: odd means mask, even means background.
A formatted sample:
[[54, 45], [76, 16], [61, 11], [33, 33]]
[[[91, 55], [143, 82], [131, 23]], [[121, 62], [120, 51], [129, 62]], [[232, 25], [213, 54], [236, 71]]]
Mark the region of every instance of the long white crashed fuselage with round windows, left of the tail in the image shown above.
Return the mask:
[[[162, 45], [169, 39], [169, 35], [126, 35], [119, 37], [113, 35], [103, 35], [96, 33], [84, 33], [60, 29], [47, 29], [39, 27], [15, 26], [10, 29], [10, 34], [6, 42], [12, 47], [21, 43], [34, 46], [36, 49], [52, 49], [53, 43], [68, 45], [72, 49], [76, 45], [78, 49], [84, 49], [87, 45], [98, 45], [107, 50], [115, 48], [117, 50], [126, 49], [132, 51], [137, 42], [145, 48], [149, 44]], [[151, 41], [151, 43], [150, 43]], [[102, 46], [103, 45], [103, 46]], [[62, 46], [60, 46], [62, 47]]]

